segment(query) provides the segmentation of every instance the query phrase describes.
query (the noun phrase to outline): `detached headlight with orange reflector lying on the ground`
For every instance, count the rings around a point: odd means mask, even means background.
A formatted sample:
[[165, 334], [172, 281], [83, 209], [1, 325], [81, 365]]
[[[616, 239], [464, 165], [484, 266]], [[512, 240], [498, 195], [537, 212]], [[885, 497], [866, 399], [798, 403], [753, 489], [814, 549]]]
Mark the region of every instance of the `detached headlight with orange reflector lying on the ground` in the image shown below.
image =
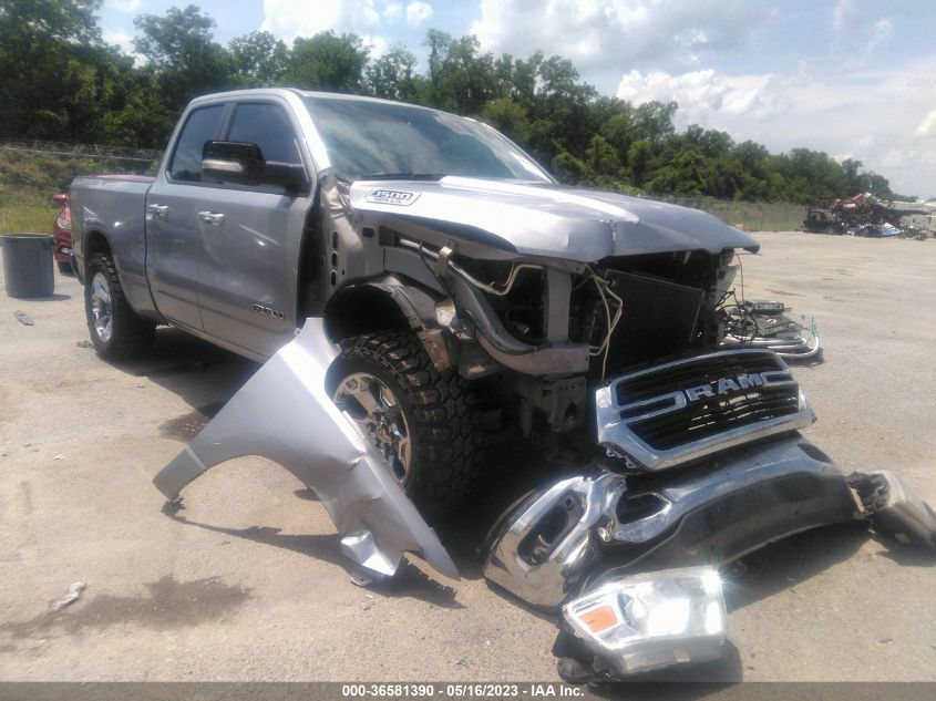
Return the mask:
[[621, 577], [563, 607], [563, 617], [619, 676], [722, 656], [728, 615], [711, 567]]

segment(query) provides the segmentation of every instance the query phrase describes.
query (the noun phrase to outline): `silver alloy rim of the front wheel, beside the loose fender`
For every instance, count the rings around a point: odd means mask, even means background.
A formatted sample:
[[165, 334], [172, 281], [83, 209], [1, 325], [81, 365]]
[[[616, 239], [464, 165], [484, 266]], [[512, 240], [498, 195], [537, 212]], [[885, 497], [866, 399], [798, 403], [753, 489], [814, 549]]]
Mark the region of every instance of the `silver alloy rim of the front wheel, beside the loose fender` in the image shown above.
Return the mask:
[[366, 372], [344, 378], [332, 401], [387, 458], [390, 472], [405, 485], [412, 464], [410, 426], [400, 402], [387, 383]]

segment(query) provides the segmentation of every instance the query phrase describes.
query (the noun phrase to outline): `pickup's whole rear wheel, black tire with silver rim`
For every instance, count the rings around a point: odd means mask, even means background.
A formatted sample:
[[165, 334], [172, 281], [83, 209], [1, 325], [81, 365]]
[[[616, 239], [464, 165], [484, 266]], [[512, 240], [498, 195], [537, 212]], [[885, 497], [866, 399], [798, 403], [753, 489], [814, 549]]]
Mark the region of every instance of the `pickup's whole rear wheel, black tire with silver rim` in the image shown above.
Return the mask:
[[153, 346], [156, 324], [131, 309], [107, 254], [94, 254], [88, 262], [84, 313], [91, 342], [105, 360], [140, 358]]

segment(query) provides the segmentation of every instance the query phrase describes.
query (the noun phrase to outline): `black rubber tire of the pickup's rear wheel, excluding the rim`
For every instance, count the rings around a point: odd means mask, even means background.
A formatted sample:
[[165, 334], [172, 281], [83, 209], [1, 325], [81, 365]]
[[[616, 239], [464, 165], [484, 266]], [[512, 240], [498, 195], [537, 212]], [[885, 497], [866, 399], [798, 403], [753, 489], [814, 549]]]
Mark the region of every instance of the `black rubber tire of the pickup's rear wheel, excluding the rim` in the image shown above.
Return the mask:
[[[107, 278], [111, 291], [112, 336], [109, 343], [103, 343], [94, 331], [94, 317], [91, 315], [91, 282], [99, 270]], [[101, 358], [106, 360], [133, 360], [145, 355], [153, 346], [156, 324], [140, 318], [133, 311], [123, 293], [117, 269], [107, 254], [94, 254], [88, 262], [84, 285], [84, 316], [91, 342]]]

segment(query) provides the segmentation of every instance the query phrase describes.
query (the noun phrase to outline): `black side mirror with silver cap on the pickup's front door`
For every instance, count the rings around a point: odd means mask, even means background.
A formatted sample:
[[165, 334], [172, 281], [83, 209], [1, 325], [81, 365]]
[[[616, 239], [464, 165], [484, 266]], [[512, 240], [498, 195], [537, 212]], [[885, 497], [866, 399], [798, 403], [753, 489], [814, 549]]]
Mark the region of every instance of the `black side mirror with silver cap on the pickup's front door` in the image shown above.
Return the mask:
[[301, 165], [265, 161], [257, 144], [209, 141], [202, 150], [202, 174], [223, 183], [280, 185], [287, 190], [306, 186]]

